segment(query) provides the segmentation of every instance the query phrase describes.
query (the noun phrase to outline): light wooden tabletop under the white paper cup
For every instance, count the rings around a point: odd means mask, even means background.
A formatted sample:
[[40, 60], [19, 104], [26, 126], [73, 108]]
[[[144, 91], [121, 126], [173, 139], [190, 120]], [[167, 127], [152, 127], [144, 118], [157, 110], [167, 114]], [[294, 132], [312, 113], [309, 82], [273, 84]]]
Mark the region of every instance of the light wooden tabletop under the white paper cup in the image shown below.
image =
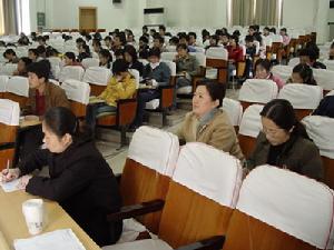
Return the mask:
[[[4, 241], [11, 247], [14, 239], [30, 237], [22, 214], [22, 202], [32, 198], [37, 197], [30, 196], [23, 190], [7, 193], [0, 188], [0, 246], [1, 242], [6, 246], [3, 239], [1, 240], [1, 234], [4, 238]], [[70, 228], [87, 250], [100, 250], [100, 248], [57, 202], [46, 199], [43, 199], [43, 201], [47, 212], [47, 224], [42, 233], [57, 229]]]

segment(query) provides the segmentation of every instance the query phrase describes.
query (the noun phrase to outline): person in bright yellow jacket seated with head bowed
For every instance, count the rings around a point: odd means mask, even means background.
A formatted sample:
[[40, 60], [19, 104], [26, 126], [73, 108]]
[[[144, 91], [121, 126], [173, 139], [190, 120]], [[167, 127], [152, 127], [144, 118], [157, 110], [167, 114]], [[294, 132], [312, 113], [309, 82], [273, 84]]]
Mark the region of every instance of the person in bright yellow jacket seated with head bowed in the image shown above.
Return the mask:
[[124, 59], [118, 59], [112, 63], [114, 77], [107, 88], [98, 96], [94, 102], [87, 107], [86, 124], [95, 131], [96, 118], [116, 112], [117, 100], [131, 98], [136, 92], [136, 80], [128, 72], [128, 63]]

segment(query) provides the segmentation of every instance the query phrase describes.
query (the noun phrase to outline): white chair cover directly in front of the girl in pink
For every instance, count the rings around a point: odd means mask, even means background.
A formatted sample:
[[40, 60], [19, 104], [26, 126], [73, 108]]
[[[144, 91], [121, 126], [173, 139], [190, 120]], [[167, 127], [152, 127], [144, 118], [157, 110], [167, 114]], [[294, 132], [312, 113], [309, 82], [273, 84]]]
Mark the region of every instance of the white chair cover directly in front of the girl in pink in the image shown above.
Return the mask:
[[239, 101], [267, 103], [277, 98], [278, 88], [272, 80], [247, 79], [239, 91]]

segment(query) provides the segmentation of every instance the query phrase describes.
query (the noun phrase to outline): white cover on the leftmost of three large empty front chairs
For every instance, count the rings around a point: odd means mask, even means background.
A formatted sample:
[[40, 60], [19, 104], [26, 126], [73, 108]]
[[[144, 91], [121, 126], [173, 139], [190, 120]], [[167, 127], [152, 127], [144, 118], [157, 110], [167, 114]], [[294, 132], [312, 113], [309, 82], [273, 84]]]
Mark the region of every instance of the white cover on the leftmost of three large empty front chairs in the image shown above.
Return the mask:
[[171, 177], [178, 158], [178, 138], [159, 129], [141, 126], [132, 136], [128, 158]]

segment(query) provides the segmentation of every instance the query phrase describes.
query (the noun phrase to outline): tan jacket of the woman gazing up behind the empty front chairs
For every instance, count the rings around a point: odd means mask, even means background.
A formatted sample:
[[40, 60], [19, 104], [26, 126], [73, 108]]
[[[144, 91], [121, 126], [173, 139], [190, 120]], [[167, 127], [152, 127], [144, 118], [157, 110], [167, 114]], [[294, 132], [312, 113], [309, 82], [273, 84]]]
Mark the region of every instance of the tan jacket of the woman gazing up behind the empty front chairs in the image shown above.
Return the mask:
[[178, 138], [186, 142], [204, 142], [229, 152], [240, 160], [244, 159], [235, 130], [225, 111], [217, 110], [213, 119], [197, 132], [198, 123], [199, 121], [193, 112], [187, 113], [184, 123], [177, 132]]

